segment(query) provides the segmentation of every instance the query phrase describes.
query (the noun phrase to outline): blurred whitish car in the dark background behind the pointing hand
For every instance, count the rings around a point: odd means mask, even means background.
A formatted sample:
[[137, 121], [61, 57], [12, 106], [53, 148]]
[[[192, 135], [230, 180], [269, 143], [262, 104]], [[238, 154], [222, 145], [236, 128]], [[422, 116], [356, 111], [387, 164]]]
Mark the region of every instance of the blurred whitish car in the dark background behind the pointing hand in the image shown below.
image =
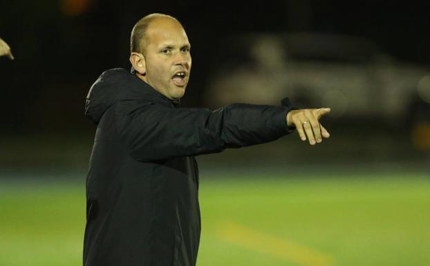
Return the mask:
[[430, 103], [430, 69], [398, 61], [344, 35], [249, 34], [224, 39], [212, 61], [206, 104], [329, 106], [330, 117], [398, 124], [416, 99]]

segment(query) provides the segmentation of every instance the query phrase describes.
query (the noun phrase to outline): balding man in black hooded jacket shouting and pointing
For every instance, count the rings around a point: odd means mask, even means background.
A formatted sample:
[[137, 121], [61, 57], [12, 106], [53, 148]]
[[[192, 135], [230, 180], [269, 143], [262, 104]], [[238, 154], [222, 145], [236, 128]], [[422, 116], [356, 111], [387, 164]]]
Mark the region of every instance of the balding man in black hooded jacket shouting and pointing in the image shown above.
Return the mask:
[[292, 110], [287, 101], [178, 108], [189, 81], [190, 44], [167, 15], [135, 24], [130, 61], [132, 73], [107, 70], [86, 98], [97, 131], [86, 182], [84, 265], [195, 265], [194, 155], [270, 142], [294, 127], [315, 144], [329, 137], [318, 119], [330, 110]]

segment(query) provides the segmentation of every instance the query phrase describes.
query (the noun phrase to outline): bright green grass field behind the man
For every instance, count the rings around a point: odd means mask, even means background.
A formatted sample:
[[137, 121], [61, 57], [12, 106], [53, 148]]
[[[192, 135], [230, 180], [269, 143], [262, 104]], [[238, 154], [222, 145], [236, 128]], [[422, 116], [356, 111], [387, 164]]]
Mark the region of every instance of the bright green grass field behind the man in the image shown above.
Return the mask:
[[[0, 265], [82, 265], [84, 181], [0, 181]], [[199, 266], [430, 265], [430, 178], [200, 182]]]

